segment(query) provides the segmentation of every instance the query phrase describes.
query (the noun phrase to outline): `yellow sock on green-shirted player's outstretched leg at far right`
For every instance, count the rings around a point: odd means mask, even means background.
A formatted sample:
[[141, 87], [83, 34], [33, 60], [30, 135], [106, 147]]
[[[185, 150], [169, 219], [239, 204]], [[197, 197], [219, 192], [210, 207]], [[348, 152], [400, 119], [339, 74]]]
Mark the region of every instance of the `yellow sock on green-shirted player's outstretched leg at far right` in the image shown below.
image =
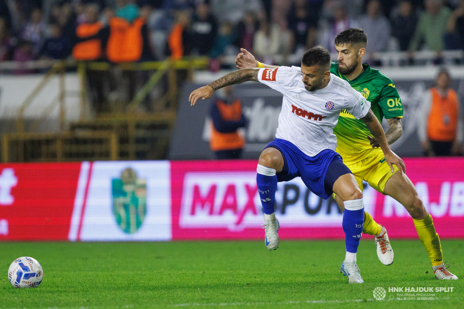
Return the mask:
[[429, 214], [425, 219], [412, 219], [412, 221], [414, 221], [414, 226], [416, 227], [420, 241], [424, 244], [425, 249], [429, 254], [432, 266], [443, 264], [443, 253], [441, 251], [440, 238], [438, 238], [438, 234], [435, 232], [432, 216]]

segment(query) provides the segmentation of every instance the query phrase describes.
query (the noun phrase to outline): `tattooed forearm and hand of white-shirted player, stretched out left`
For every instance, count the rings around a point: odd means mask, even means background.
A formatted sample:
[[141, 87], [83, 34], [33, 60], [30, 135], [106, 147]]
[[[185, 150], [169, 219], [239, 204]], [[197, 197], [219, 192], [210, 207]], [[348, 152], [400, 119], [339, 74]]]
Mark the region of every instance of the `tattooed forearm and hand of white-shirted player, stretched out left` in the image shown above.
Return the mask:
[[226, 76], [221, 77], [215, 80], [214, 82], [207, 84], [204, 87], [192, 91], [190, 97], [188, 97], [188, 102], [190, 102], [190, 106], [192, 106], [195, 105], [195, 103], [197, 103], [197, 100], [200, 98], [202, 98], [203, 100], [209, 99], [213, 96], [214, 91], [222, 87], [226, 87], [233, 84], [240, 84], [247, 81], [258, 82], [258, 71], [259, 69], [257, 68], [233, 71], [232, 73], [229, 73]]

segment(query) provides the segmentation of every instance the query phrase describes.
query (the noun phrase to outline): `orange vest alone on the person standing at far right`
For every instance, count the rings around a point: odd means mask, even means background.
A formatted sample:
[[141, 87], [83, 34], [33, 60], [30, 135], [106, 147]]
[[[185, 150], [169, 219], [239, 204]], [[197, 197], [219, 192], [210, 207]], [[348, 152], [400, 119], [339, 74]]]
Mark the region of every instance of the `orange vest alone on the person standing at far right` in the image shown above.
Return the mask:
[[427, 136], [436, 142], [452, 142], [458, 128], [459, 103], [456, 91], [448, 89], [445, 97], [438, 89], [430, 88], [432, 104], [427, 120]]

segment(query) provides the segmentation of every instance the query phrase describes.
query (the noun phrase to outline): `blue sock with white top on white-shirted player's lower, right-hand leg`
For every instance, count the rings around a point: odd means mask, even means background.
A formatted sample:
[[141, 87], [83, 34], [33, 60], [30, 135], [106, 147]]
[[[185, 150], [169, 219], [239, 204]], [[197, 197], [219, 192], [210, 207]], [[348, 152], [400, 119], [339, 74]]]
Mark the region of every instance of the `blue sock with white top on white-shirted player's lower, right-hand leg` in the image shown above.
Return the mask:
[[346, 200], [343, 204], [345, 204], [345, 212], [343, 213], [342, 227], [343, 232], [345, 232], [346, 250], [356, 253], [364, 226], [364, 204], [362, 198]]

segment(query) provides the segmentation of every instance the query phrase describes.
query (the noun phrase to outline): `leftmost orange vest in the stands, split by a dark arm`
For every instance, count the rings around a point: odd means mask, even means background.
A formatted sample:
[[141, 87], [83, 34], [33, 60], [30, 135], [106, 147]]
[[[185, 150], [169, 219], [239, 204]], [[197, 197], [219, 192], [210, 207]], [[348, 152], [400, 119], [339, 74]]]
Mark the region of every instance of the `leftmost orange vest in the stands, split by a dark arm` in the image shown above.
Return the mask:
[[93, 37], [103, 28], [101, 22], [96, 22], [93, 24], [80, 24], [76, 28], [76, 35], [79, 39], [84, 39], [84, 41], [77, 43], [72, 48], [72, 57], [76, 60], [97, 60], [103, 54], [102, 52], [102, 42], [100, 39], [88, 39], [86, 38]]

